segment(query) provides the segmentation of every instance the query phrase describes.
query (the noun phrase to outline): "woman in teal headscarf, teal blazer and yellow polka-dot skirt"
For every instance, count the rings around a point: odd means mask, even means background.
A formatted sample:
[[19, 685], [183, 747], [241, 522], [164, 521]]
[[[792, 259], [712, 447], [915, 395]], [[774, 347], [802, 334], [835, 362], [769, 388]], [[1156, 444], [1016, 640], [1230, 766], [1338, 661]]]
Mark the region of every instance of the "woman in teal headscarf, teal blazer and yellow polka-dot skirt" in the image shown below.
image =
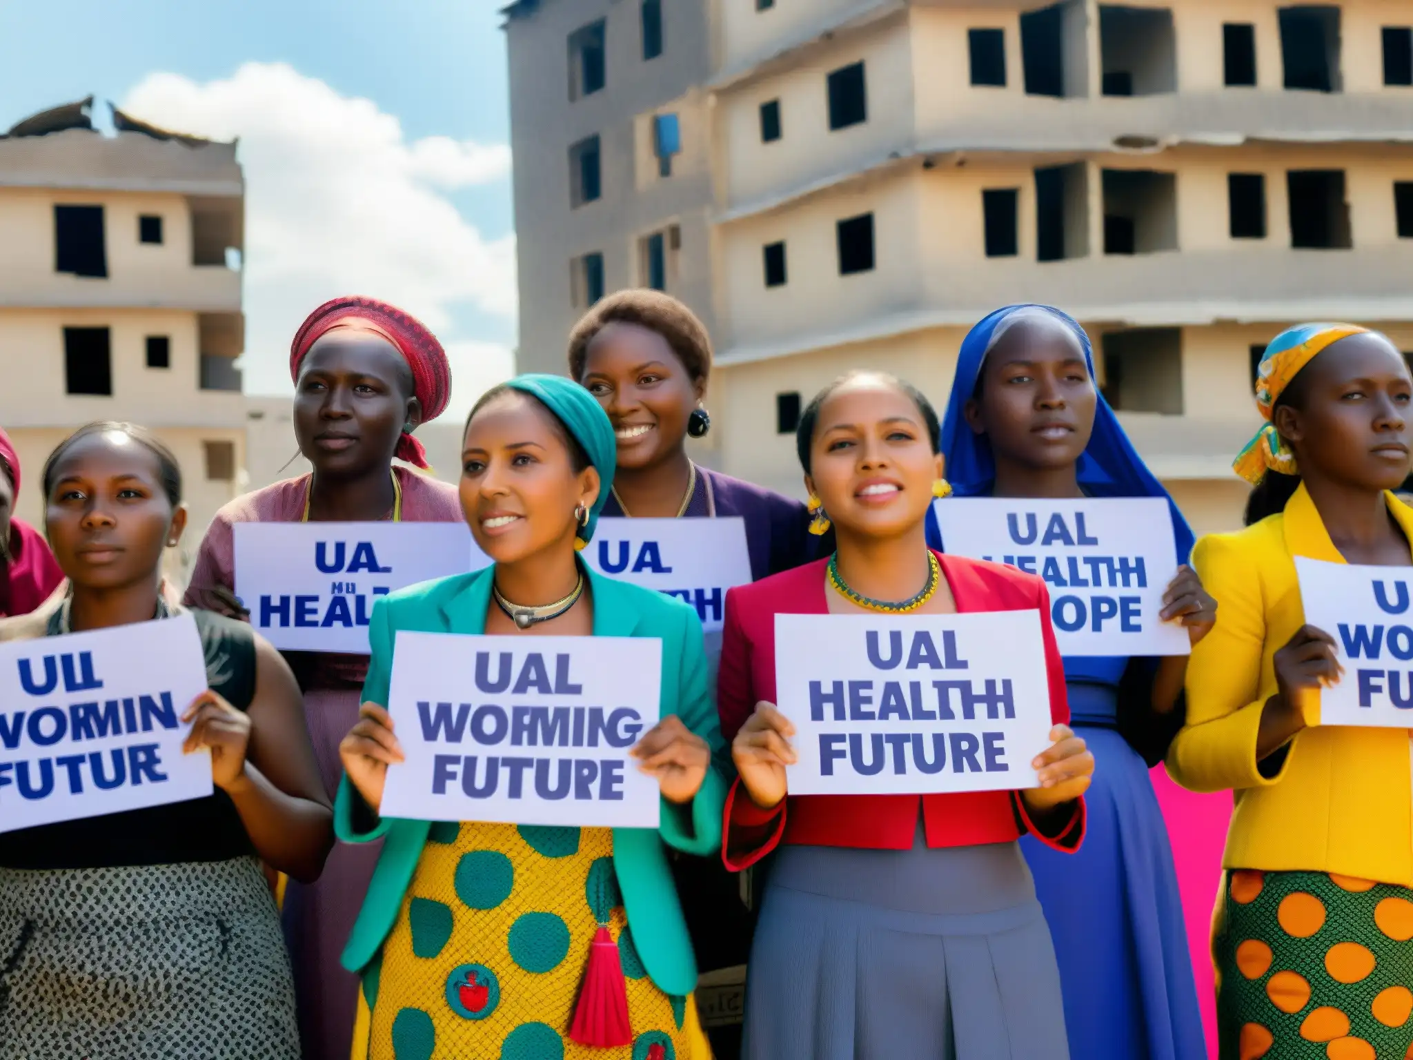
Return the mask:
[[[695, 609], [578, 557], [613, 458], [613, 427], [577, 383], [520, 376], [493, 389], [466, 424], [461, 500], [495, 565], [394, 592], [373, 611], [366, 702], [343, 741], [335, 808], [345, 841], [386, 837], [343, 951], [373, 1006], [373, 1060], [709, 1056], [666, 848], [719, 848], [721, 741]], [[387, 709], [398, 707], [393, 649], [411, 630], [658, 640], [661, 721], [632, 755], [661, 791], [660, 828], [380, 818], [389, 766], [403, 760]]]

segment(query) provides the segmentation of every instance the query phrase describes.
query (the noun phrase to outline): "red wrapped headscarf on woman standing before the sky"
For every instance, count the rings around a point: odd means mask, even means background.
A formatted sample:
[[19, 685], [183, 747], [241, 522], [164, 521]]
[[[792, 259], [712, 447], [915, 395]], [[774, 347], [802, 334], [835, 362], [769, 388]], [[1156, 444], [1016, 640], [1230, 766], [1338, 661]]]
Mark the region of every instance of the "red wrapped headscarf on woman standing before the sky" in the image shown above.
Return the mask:
[[[451, 399], [451, 365], [447, 360], [447, 351], [421, 321], [377, 298], [345, 295], [324, 302], [311, 312], [290, 343], [290, 377], [300, 379], [300, 362], [322, 335], [348, 326], [377, 332], [403, 355], [407, 366], [413, 369], [413, 393], [422, 407], [422, 423], [435, 420], [447, 410], [447, 401]], [[410, 434], [398, 438], [393, 455], [418, 468], [428, 466], [427, 451]], [[18, 483], [16, 486], [18, 488]]]

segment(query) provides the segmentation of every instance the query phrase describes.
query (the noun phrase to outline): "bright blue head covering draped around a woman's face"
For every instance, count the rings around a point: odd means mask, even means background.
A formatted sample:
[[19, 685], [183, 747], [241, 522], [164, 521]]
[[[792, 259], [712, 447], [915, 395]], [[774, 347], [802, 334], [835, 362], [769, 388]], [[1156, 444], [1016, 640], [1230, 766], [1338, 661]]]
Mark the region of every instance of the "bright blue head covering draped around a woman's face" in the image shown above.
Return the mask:
[[[976, 382], [981, 379], [992, 335], [1006, 319], [1020, 311], [1046, 312], [1070, 328], [1084, 351], [1084, 363], [1089, 370], [1089, 379], [1094, 379], [1094, 346], [1089, 345], [1089, 336], [1084, 334], [1084, 328], [1072, 317], [1051, 305], [1007, 305], [985, 317], [966, 332], [957, 356], [957, 375], [952, 377], [952, 393], [947, 401], [947, 417], [942, 420], [941, 442], [942, 455], [947, 458], [947, 479], [952, 483], [957, 496], [983, 496], [991, 492], [996, 479], [996, 461], [991, 452], [991, 441], [972, 431], [962, 410], [976, 393]], [[1080, 485], [1087, 493], [1096, 497], [1163, 497], [1167, 500], [1173, 517], [1177, 560], [1187, 563], [1194, 541], [1191, 527], [1183, 513], [1177, 510], [1173, 497], [1133, 451], [1133, 444], [1119, 425], [1109, 403], [1104, 400], [1104, 394], [1096, 394], [1096, 399], [1094, 432], [1080, 455], [1077, 468]]]

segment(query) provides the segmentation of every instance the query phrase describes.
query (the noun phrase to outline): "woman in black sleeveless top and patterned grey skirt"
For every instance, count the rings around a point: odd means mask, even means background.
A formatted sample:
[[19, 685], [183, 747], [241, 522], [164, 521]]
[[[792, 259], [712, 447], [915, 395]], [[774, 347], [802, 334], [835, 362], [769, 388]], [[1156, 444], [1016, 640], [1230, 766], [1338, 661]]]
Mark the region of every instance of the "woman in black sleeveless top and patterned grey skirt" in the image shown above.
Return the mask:
[[[49, 637], [58, 653], [65, 633], [157, 626], [154, 618], [179, 612], [158, 591], [162, 550], [187, 522], [181, 471], [161, 442], [130, 424], [90, 424], [49, 457], [44, 495], [71, 591], [0, 622], [0, 639]], [[329, 803], [284, 660], [243, 623], [201, 611], [194, 618], [201, 649], [192, 643], [191, 652], [205, 652], [211, 688], [181, 715], [191, 722], [184, 750], [211, 752], [215, 791], [0, 832], [6, 1056], [300, 1057], [290, 965], [260, 862], [297, 879], [318, 876], [333, 841]], [[64, 687], [82, 693], [106, 680], [114, 695], [116, 685], [131, 687], [131, 676], [88, 673], [95, 657], [66, 664]], [[201, 666], [201, 656], [191, 661]], [[102, 701], [69, 707], [75, 741], [88, 739], [78, 735], [85, 707], [105, 732], [153, 731], [150, 714], [137, 722], [133, 698], [122, 700], [126, 724], [119, 700], [107, 702], [112, 709]], [[119, 752], [106, 752], [116, 755], [112, 772], [103, 755], [82, 753], [86, 742], [71, 746], [69, 756], [55, 748], [66, 766], [57, 782], [71, 793], [85, 765], [92, 786], [113, 799], [124, 796], [124, 776], [131, 784], [141, 783], [138, 773], [165, 779], [144, 767], [140, 746], [127, 746], [126, 770]], [[0, 806], [14, 791], [0, 787]]]

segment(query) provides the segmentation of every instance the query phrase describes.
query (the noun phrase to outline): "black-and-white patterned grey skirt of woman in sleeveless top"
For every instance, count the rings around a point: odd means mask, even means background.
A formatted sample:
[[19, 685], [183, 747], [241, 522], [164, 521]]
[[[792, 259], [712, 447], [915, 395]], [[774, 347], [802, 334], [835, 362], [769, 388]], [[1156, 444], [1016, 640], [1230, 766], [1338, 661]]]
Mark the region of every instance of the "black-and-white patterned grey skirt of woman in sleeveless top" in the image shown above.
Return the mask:
[[298, 1060], [254, 858], [0, 869], [0, 1060]]

